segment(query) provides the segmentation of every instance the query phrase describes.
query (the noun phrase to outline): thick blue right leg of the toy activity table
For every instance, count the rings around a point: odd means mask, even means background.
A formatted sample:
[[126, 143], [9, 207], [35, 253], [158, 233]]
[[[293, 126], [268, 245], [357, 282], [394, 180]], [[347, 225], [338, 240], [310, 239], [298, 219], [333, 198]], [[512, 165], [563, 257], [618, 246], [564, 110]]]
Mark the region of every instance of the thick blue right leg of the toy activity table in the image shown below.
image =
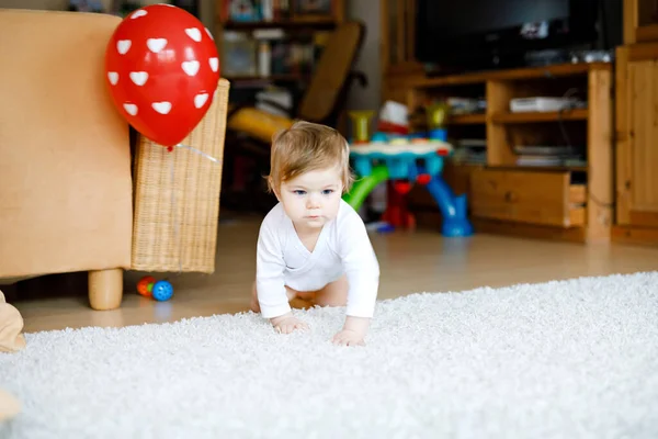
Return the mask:
[[466, 217], [466, 195], [455, 196], [440, 177], [433, 177], [427, 189], [443, 214], [441, 233], [450, 237], [473, 235], [473, 226]]

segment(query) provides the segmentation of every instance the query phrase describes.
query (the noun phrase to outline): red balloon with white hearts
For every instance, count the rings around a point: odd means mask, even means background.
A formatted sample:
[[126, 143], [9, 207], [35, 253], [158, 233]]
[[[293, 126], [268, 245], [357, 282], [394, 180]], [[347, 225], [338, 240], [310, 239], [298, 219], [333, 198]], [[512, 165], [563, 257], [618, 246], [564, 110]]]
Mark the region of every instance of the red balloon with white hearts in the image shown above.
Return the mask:
[[105, 50], [105, 80], [131, 125], [160, 145], [179, 144], [201, 122], [219, 81], [213, 36], [188, 11], [169, 4], [137, 9]]

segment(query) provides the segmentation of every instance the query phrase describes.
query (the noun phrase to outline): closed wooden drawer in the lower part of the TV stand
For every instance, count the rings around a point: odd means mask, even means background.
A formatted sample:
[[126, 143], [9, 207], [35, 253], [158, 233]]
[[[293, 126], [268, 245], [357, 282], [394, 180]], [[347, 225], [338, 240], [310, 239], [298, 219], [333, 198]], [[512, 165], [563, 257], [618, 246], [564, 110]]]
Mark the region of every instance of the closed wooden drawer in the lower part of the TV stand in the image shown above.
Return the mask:
[[538, 225], [585, 224], [586, 188], [569, 172], [480, 169], [470, 177], [473, 216]]

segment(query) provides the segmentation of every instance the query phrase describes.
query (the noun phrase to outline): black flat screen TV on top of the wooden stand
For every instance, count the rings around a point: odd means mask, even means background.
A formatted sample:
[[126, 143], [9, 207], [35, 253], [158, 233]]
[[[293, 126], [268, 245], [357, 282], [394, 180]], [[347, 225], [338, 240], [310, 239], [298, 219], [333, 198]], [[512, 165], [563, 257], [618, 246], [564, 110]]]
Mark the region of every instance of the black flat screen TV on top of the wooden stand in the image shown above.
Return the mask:
[[621, 2], [417, 0], [416, 58], [442, 70], [481, 70], [527, 65], [531, 53], [609, 49], [605, 32], [621, 21]]

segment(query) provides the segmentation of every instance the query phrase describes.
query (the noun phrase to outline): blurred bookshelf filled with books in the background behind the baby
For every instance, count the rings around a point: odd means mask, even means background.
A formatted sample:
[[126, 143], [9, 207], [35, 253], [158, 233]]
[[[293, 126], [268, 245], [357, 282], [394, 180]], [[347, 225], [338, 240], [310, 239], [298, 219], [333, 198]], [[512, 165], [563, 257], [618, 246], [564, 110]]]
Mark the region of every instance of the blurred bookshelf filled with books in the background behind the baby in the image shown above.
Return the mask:
[[217, 0], [215, 33], [223, 77], [232, 87], [303, 89], [344, 0]]

